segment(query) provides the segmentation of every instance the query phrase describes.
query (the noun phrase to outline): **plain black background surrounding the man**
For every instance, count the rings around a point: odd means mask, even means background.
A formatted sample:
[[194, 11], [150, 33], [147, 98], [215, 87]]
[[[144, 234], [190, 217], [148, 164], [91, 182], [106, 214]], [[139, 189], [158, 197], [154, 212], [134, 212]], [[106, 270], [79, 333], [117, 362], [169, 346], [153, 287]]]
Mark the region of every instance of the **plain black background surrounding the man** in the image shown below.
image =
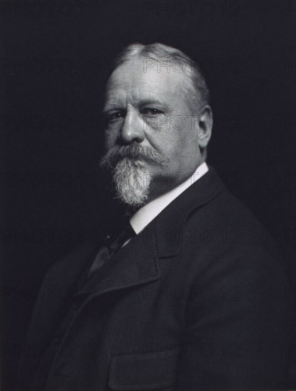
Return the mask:
[[116, 225], [100, 110], [106, 66], [128, 43], [199, 61], [214, 111], [209, 164], [278, 241], [295, 285], [295, 1], [0, 6], [3, 390], [46, 269]]

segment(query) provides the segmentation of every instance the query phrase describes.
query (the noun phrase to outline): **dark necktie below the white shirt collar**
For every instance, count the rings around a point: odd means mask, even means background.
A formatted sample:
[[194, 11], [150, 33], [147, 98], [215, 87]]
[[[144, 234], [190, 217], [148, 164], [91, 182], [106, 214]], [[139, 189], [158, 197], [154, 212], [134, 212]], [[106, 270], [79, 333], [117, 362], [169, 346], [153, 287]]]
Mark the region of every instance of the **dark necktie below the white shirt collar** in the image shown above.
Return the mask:
[[103, 247], [100, 248], [97, 256], [92, 263], [92, 266], [89, 269], [88, 277], [92, 277], [94, 272], [103, 266], [103, 264], [116, 254], [121, 247], [128, 241], [136, 236], [136, 232], [131, 227], [129, 221], [124, 225], [124, 228], [121, 230], [120, 234], [112, 240], [112, 238], [107, 235]]

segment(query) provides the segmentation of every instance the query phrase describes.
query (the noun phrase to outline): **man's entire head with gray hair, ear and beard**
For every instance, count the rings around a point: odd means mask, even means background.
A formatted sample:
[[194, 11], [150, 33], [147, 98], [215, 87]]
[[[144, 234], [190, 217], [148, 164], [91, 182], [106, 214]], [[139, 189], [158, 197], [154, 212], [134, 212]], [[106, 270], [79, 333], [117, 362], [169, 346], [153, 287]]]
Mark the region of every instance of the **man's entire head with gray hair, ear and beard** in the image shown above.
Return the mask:
[[129, 45], [106, 85], [106, 155], [125, 203], [141, 206], [187, 179], [206, 158], [209, 91], [199, 68], [160, 43]]

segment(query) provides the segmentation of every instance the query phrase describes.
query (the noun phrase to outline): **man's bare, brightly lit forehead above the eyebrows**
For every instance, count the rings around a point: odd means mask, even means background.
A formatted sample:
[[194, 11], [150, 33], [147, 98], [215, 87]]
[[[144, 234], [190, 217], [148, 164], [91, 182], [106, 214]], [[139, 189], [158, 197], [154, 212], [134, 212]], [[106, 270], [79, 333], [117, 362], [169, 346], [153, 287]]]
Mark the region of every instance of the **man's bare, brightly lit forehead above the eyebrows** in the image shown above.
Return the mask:
[[[144, 66], [145, 58], [137, 57], [119, 65], [111, 74], [106, 87], [106, 102], [128, 101], [135, 103], [139, 99], [174, 100], [185, 84], [185, 75], [175, 73], [172, 68]], [[124, 102], [123, 102], [124, 103]]]

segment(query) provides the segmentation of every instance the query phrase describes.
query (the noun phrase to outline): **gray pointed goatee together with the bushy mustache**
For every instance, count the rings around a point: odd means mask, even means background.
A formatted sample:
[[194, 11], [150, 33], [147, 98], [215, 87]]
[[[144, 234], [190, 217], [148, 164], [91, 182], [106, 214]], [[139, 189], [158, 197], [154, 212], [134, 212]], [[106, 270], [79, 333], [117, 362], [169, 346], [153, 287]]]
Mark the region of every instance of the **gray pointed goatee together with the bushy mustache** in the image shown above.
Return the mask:
[[116, 198], [138, 208], [148, 200], [153, 180], [148, 163], [163, 167], [168, 161], [155, 149], [133, 143], [114, 146], [103, 156], [100, 167], [111, 172]]

